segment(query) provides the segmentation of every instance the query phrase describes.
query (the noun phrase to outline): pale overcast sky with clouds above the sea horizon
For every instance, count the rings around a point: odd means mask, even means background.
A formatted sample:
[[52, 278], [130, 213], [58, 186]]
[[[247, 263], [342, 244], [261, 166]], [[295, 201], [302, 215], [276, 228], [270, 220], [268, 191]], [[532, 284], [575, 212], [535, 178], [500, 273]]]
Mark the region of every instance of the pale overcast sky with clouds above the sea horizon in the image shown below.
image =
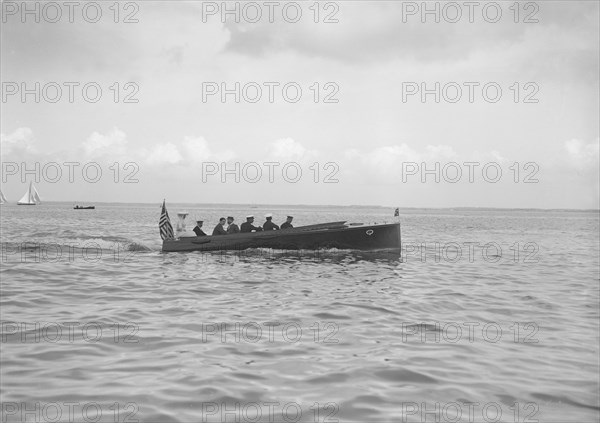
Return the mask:
[[599, 3], [423, 4], [3, 1], [2, 192], [599, 208]]

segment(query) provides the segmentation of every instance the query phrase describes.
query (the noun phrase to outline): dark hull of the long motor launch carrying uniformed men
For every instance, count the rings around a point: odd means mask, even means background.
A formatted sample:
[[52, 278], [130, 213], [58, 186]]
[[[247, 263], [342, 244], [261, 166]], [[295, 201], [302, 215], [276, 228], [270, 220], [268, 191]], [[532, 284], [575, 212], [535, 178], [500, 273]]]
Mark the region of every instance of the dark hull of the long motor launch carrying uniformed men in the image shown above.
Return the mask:
[[163, 251], [226, 251], [247, 248], [280, 250], [397, 249], [400, 251], [400, 224], [345, 226], [335, 229], [252, 232], [233, 235], [182, 237], [163, 241]]

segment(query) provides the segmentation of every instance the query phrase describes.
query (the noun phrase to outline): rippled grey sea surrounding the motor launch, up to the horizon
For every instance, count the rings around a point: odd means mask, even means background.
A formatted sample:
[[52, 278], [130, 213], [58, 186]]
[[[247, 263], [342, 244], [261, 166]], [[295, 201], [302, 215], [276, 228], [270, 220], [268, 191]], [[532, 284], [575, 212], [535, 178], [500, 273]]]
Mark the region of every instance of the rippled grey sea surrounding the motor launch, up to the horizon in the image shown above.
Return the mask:
[[598, 422], [599, 212], [399, 219], [402, 249], [162, 253], [160, 204], [0, 206], [2, 422]]

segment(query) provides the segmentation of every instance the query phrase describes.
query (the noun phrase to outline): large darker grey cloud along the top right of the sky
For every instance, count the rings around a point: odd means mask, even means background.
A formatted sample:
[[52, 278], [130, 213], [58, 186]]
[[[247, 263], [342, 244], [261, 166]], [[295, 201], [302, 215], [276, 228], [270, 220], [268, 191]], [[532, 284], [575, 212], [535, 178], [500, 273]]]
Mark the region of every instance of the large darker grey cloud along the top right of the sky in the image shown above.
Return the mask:
[[[412, 5], [410, 4], [412, 3]], [[574, 3], [574, 2], [573, 2]], [[549, 35], [565, 31], [577, 36], [578, 46], [593, 52], [597, 43], [586, 30], [597, 28], [590, 16], [597, 16], [594, 4], [573, 3], [564, 7], [560, 4], [544, 4], [542, 11], [531, 10], [520, 5], [520, 21], [538, 19], [547, 24], [548, 31], [532, 31], [535, 23], [514, 23], [515, 7], [512, 3], [501, 4], [500, 20], [493, 21], [495, 8], [484, 8], [481, 4], [471, 11], [468, 6], [454, 3], [458, 10], [446, 10], [442, 3], [425, 6], [421, 2], [376, 2], [365, 7], [364, 3], [345, 2], [335, 10], [321, 7], [319, 23], [314, 23], [313, 6], [304, 5], [303, 17], [297, 23], [287, 23], [278, 11], [274, 23], [263, 19], [258, 23], [231, 23], [225, 28], [231, 34], [227, 44], [229, 51], [261, 56], [280, 51], [294, 50], [303, 56], [324, 57], [342, 62], [365, 63], [391, 61], [397, 58], [416, 59], [420, 62], [445, 62], [464, 60], [476, 52], [493, 51], [495, 55], [515, 45], [545, 40]], [[498, 3], [496, 3], [498, 4]], [[423, 14], [424, 9], [438, 8], [435, 13]], [[512, 9], [511, 9], [512, 7]], [[409, 9], [416, 8], [414, 14]], [[485, 10], [484, 10], [485, 9]], [[527, 10], [524, 10], [527, 9]], [[413, 9], [414, 10], [414, 9]], [[472, 12], [472, 13], [471, 13]], [[569, 21], [565, 21], [564, 14]], [[472, 14], [473, 22], [470, 22]], [[337, 19], [336, 23], [324, 23], [326, 16]], [[459, 16], [458, 22], [450, 22]], [[422, 22], [425, 20], [425, 22]], [[566, 22], [577, 22], [577, 29]], [[537, 24], [537, 26], [540, 26]], [[327, 42], [323, 42], [326, 39]], [[572, 44], [562, 46], [564, 52], [572, 50]], [[528, 51], [531, 62], [535, 51]]]

